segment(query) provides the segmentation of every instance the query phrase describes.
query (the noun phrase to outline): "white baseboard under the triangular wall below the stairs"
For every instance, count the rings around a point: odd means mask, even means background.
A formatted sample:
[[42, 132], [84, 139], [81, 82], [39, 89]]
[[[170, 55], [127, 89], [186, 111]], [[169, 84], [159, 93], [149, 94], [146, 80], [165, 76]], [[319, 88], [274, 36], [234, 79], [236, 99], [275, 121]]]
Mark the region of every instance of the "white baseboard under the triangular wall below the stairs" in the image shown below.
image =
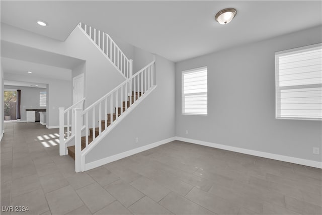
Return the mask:
[[129, 151], [117, 154], [117, 155], [112, 155], [112, 156], [107, 157], [107, 158], [103, 158], [103, 159], [100, 159], [100, 160], [97, 160], [97, 161], [87, 163], [87, 164], [85, 164], [85, 171], [93, 169], [93, 168], [96, 168], [96, 167], [99, 167], [99, 166], [102, 166], [104, 164], [111, 163], [113, 161], [120, 160], [122, 158], [126, 158], [128, 156], [131, 156], [131, 155], [134, 155], [134, 154], [137, 154], [137, 153], [149, 150], [149, 149], [152, 149], [154, 147], [158, 147], [158, 146], [163, 145], [163, 144], [167, 144], [168, 142], [171, 142], [171, 141], [174, 141], [174, 140], [175, 140], [175, 137], [171, 137], [171, 138], [168, 138], [168, 139], [153, 142], [153, 144], [149, 144], [149, 145], [139, 147], [139, 148], [136, 148], [136, 149], [132, 149], [132, 150], [129, 150]]

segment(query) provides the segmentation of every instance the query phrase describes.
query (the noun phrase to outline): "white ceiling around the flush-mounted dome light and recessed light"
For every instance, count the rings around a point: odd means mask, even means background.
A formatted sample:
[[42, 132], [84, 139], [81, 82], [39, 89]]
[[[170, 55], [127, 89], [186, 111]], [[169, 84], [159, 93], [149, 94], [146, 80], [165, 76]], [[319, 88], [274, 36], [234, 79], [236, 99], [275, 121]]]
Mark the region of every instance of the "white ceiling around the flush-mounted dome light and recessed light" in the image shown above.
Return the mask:
[[[1, 22], [65, 40], [84, 22], [174, 62], [322, 24], [321, 1], [1, 1]], [[237, 15], [220, 25], [214, 15]], [[37, 20], [48, 22], [41, 27]]]

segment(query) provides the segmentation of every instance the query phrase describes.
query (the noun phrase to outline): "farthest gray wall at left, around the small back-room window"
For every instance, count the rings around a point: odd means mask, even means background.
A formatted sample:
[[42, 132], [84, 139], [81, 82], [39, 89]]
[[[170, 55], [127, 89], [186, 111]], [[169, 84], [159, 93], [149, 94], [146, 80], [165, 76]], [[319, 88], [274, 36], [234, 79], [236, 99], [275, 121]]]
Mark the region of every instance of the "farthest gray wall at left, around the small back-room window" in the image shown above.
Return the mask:
[[9, 85], [5, 85], [5, 89], [21, 90], [21, 121], [27, 120], [26, 109], [46, 109], [46, 107], [39, 106], [39, 93], [43, 91], [47, 92], [47, 89], [34, 87], [18, 87]]

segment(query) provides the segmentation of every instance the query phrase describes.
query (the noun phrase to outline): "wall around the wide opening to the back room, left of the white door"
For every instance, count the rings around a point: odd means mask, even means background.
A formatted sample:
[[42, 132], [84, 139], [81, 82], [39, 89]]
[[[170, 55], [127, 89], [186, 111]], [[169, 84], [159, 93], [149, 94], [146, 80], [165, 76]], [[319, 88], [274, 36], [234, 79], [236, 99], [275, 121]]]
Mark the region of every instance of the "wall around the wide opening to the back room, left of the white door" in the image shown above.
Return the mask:
[[71, 103], [71, 81], [58, 79], [46, 79], [39, 77], [21, 76], [4, 73], [4, 79], [10, 81], [36, 82], [48, 84], [47, 86], [47, 124], [46, 126], [57, 127], [59, 125], [58, 107], [68, 108]]

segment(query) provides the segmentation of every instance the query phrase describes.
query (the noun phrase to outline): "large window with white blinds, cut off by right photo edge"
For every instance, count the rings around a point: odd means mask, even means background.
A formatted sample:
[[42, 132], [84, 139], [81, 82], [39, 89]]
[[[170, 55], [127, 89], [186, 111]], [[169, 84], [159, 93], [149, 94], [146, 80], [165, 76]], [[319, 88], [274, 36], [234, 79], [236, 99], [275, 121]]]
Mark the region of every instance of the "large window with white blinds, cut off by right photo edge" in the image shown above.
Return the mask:
[[322, 46], [276, 52], [276, 118], [322, 119]]

